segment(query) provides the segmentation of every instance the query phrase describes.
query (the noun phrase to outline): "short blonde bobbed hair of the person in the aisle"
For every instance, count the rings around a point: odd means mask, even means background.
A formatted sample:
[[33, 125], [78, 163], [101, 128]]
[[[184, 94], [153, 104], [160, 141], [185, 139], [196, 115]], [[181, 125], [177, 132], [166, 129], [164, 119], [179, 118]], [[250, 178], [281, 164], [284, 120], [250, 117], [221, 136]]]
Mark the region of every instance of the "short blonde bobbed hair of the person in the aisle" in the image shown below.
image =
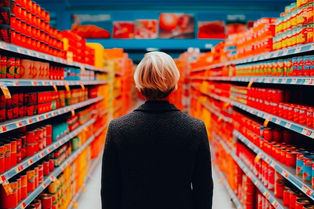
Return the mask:
[[174, 59], [164, 52], [148, 52], [134, 73], [136, 88], [146, 98], [162, 99], [178, 88], [179, 70]]

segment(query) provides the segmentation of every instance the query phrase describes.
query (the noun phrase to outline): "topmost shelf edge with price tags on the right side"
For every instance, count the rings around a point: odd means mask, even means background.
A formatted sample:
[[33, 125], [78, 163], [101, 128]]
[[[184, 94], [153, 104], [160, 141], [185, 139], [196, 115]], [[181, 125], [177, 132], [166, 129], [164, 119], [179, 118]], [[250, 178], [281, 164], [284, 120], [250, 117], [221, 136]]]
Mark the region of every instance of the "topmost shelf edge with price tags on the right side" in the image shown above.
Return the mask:
[[257, 62], [257, 61], [262, 61], [262, 60], [282, 58], [286, 56], [293, 57], [293, 55], [297, 56], [300, 53], [308, 53], [310, 51], [314, 51], [314, 44], [312, 43], [295, 46], [295, 47], [289, 47], [288, 49], [283, 49], [283, 50], [265, 52], [265, 53], [262, 53], [256, 56], [251, 56], [248, 58], [222, 62], [222, 63], [218, 63], [218, 64], [214, 64], [214, 65], [210, 65], [210, 66], [206, 66], [202, 68], [197, 68], [197, 69], [192, 70], [191, 72], [199, 72], [199, 71], [204, 71], [204, 70], [209, 70], [209, 69], [220, 68], [220, 67], [224, 67], [228, 65], [246, 64], [246, 63], [252, 63], [252, 62]]

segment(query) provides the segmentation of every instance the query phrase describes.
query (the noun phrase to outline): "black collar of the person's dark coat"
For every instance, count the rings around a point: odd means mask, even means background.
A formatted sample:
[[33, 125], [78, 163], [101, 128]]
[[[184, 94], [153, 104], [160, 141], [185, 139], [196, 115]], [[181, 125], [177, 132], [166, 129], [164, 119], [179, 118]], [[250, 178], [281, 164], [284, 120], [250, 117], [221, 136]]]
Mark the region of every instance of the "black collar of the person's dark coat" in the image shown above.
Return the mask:
[[134, 111], [143, 112], [169, 112], [169, 111], [181, 111], [174, 104], [170, 104], [168, 101], [148, 101], [140, 105]]

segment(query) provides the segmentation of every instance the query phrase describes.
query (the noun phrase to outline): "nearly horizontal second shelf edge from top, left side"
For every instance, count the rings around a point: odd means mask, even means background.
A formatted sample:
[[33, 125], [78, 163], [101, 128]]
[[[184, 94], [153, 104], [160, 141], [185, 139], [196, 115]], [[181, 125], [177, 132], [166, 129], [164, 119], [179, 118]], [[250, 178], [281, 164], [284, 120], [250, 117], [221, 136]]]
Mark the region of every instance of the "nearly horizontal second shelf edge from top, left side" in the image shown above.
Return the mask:
[[33, 79], [0, 79], [4, 86], [80, 86], [101, 85], [108, 81], [66, 81], [66, 80], [33, 80]]

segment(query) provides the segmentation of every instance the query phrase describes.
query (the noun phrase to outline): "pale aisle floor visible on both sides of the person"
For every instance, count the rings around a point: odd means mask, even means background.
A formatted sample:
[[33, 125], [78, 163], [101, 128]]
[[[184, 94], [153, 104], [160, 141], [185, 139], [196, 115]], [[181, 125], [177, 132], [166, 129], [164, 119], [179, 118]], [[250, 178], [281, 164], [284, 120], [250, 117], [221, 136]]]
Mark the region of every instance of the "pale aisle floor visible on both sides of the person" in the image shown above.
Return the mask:
[[[141, 103], [143, 103], [143, 101], [139, 100], [134, 105], [134, 107], [137, 108]], [[82, 194], [77, 200], [79, 209], [88, 208], [101, 209], [100, 181], [101, 181], [101, 159], [99, 160], [99, 163], [96, 166], [93, 173], [89, 176], [89, 180], [87, 181], [87, 184], [85, 186], [85, 191], [82, 192]], [[213, 168], [213, 181], [214, 181], [214, 195], [212, 209], [235, 208], [224, 185], [222, 183], [219, 183], [219, 176], [214, 168]]]

